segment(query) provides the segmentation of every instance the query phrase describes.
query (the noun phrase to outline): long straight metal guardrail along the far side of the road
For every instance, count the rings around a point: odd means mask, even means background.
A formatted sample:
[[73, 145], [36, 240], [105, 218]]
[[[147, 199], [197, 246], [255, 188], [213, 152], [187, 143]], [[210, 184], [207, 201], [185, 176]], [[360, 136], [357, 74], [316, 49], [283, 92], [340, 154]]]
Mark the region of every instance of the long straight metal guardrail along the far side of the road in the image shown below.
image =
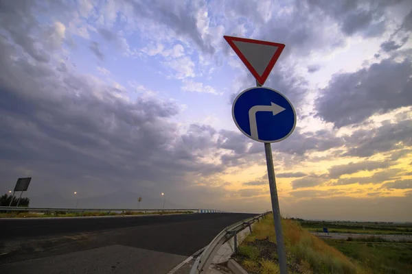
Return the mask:
[[20, 212], [186, 212], [194, 213], [228, 213], [222, 210], [203, 210], [199, 208], [30, 208], [23, 206], [0, 206], [0, 211]]

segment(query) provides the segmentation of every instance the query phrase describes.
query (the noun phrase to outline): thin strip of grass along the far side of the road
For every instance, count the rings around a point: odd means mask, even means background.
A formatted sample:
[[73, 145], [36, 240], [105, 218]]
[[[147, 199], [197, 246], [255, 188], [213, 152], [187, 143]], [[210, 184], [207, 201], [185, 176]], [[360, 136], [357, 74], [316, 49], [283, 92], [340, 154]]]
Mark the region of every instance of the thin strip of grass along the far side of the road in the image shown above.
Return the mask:
[[159, 211], [159, 212], [47, 212], [45, 214], [30, 212], [0, 213], [0, 218], [48, 218], [48, 217], [86, 217], [86, 216], [122, 216], [122, 215], [144, 215], [144, 214], [189, 214], [192, 211]]

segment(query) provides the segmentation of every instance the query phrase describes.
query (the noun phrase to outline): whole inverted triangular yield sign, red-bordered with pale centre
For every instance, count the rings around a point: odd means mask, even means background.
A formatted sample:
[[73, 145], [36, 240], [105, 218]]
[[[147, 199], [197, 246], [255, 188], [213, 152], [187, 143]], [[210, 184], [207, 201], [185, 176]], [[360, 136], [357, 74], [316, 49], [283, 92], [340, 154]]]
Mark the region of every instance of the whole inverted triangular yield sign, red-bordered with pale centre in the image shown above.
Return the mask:
[[253, 77], [263, 85], [285, 45], [275, 42], [223, 36], [230, 47], [249, 69]]

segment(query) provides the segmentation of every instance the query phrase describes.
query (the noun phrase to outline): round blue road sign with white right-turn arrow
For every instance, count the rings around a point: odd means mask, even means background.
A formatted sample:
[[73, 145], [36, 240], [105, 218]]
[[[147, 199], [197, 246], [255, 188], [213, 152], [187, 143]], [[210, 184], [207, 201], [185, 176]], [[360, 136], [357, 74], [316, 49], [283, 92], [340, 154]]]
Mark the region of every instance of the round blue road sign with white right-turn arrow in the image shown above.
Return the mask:
[[282, 93], [255, 87], [240, 92], [233, 102], [233, 121], [240, 131], [258, 142], [279, 142], [296, 126], [296, 112]]

